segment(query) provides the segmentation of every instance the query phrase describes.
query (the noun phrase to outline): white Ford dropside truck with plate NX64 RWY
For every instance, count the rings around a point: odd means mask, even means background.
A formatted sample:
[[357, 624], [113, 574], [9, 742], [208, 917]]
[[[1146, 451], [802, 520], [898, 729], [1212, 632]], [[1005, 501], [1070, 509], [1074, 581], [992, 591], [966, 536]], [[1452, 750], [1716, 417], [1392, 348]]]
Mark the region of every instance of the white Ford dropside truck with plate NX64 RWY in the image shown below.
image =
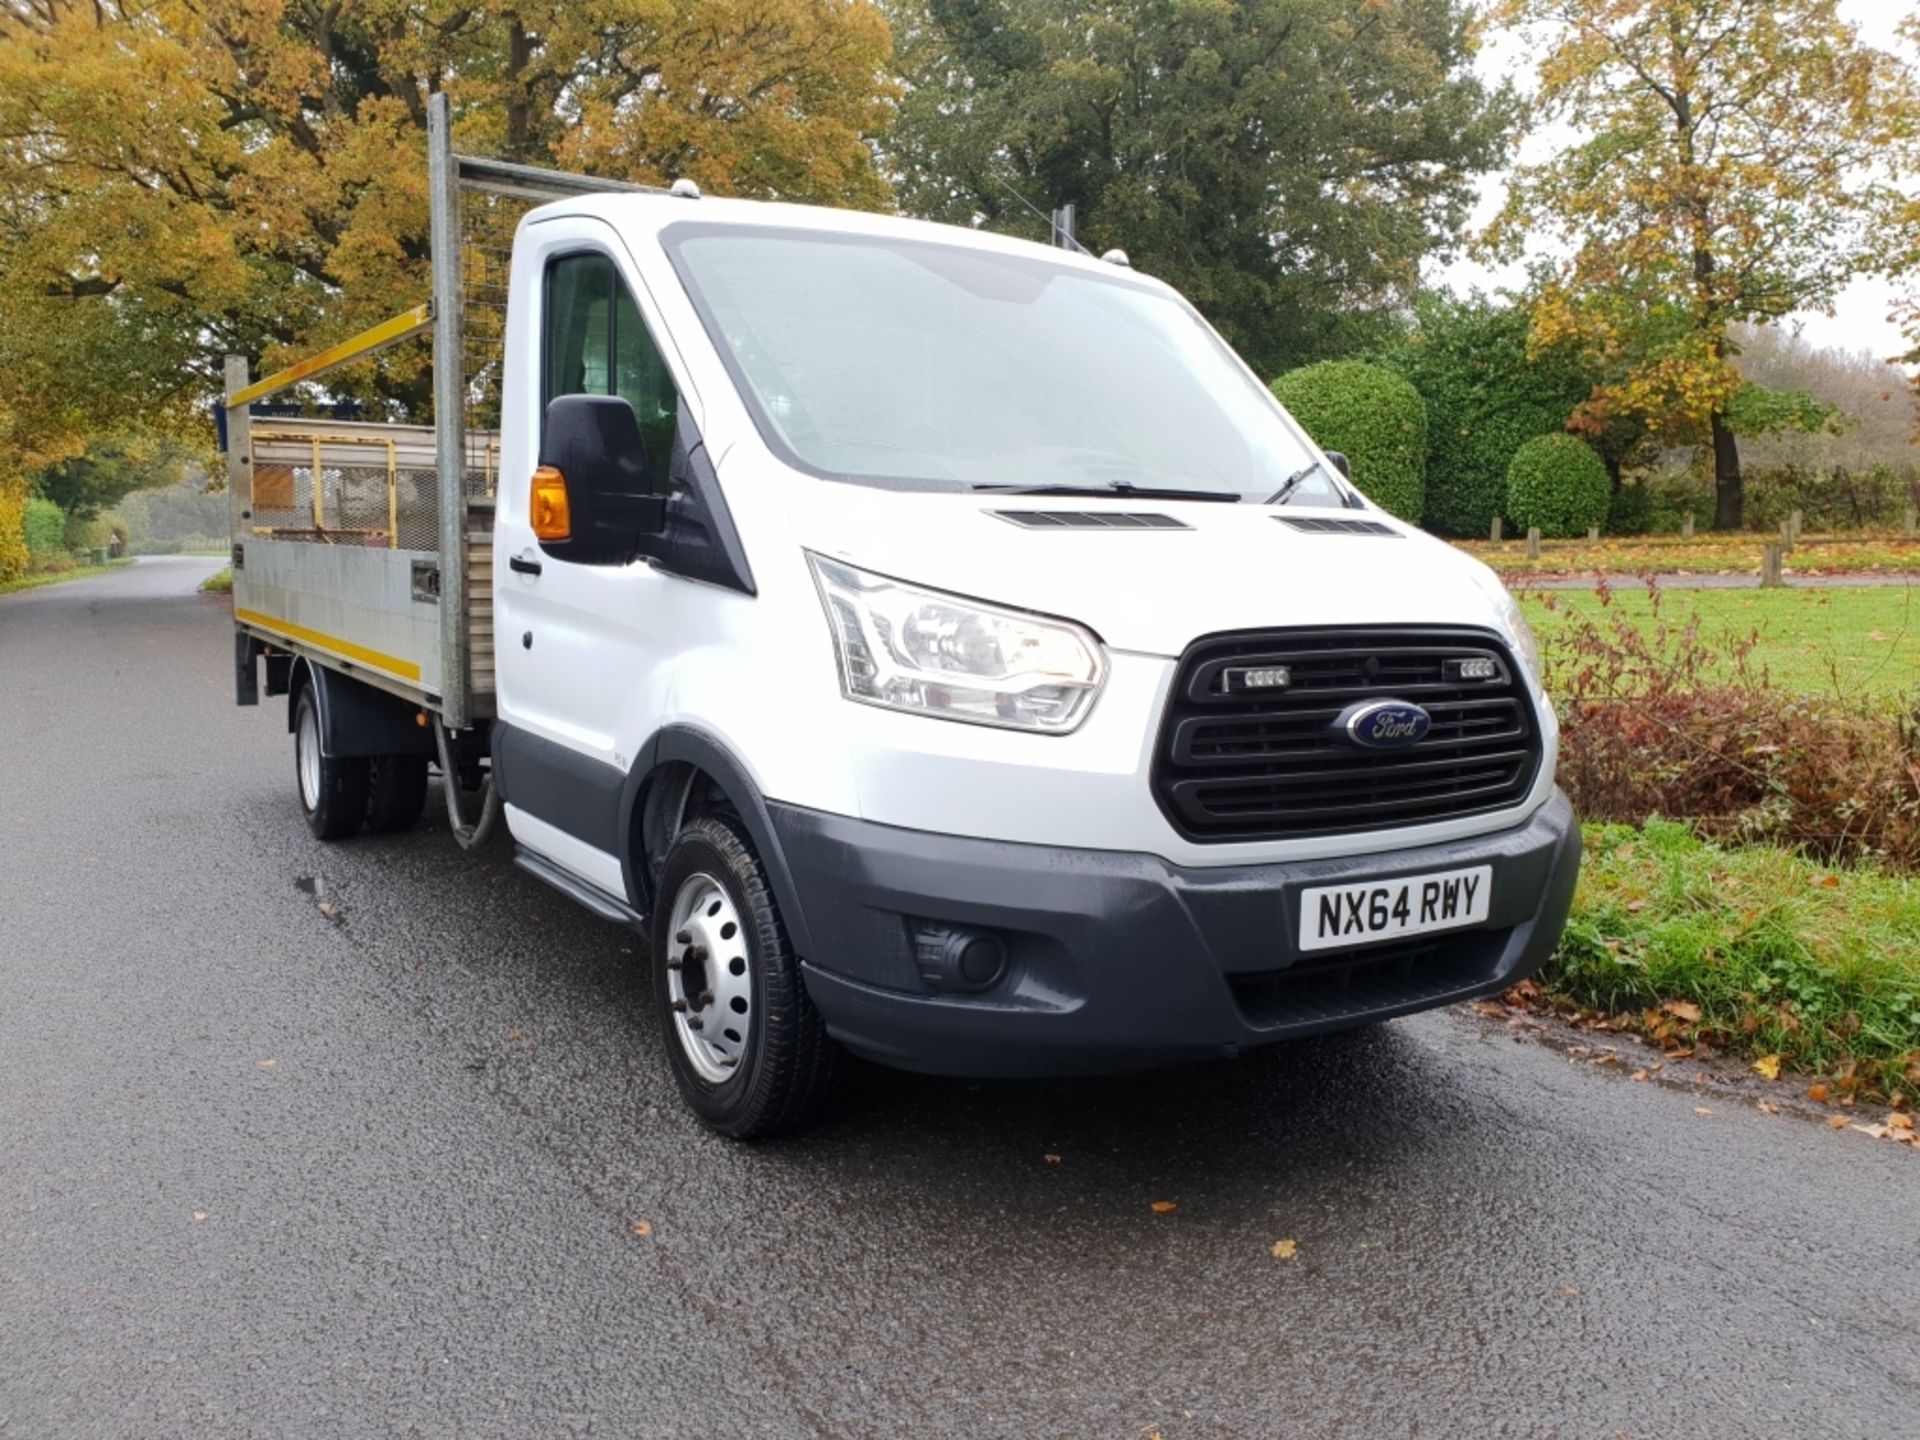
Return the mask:
[[[1002, 236], [459, 156], [432, 300], [228, 361], [236, 685], [313, 833], [649, 939], [687, 1104], [841, 1052], [1233, 1056], [1500, 991], [1580, 833], [1526, 622], [1179, 294]], [[511, 246], [509, 238], [511, 236]], [[261, 403], [432, 336], [432, 424]]]

